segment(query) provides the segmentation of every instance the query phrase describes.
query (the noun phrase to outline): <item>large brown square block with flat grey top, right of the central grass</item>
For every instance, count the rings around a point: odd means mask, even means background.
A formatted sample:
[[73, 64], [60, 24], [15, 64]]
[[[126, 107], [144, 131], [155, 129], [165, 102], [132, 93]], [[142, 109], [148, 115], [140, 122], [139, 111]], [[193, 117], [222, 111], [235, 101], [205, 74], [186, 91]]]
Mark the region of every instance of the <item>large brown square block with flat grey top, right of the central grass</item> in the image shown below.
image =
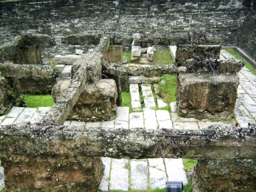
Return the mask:
[[177, 109], [184, 117], [232, 117], [238, 85], [236, 74], [180, 74], [176, 87]]

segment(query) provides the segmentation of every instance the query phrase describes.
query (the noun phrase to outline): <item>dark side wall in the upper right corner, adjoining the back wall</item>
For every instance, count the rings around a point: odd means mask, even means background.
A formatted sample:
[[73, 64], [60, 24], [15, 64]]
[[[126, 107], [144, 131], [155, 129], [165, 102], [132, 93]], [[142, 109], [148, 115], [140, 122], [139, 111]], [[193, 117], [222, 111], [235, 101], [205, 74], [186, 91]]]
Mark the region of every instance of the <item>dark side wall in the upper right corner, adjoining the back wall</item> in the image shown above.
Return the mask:
[[[256, 2], [255, 2], [256, 4]], [[256, 8], [256, 5], [255, 7]], [[245, 20], [238, 37], [238, 46], [256, 60], [256, 11], [252, 11]]]

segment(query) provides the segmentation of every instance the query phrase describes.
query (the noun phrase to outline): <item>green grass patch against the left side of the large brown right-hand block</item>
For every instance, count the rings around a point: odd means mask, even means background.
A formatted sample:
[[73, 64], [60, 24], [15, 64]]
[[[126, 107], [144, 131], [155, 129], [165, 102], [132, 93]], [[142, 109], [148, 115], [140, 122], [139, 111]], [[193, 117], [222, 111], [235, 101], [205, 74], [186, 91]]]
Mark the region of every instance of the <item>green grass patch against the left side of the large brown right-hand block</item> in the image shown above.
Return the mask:
[[[161, 83], [161, 80], [166, 83]], [[176, 75], [164, 75], [158, 78], [160, 97], [167, 104], [176, 100]]]

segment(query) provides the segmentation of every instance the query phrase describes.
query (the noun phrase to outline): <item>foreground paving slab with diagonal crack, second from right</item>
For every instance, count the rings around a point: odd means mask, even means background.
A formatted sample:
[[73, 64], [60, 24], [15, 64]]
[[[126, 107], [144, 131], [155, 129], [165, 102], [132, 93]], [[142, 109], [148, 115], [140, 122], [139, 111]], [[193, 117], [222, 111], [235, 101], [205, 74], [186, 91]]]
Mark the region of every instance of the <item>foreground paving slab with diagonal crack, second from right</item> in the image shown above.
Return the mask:
[[149, 163], [149, 186], [152, 189], [166, 187], [166, 171], [164, 159], [148, 159]]

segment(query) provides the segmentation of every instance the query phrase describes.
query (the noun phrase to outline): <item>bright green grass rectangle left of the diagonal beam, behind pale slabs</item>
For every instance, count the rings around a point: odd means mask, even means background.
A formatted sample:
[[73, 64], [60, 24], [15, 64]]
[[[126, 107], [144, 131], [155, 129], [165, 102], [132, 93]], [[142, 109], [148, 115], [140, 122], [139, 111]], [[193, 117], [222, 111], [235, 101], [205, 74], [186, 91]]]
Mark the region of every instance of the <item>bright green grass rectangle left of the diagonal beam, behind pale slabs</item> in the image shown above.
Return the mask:
[[53, 106], [52, 95], [25, 95], [27, 107], [37, 108], [40, 106]]

